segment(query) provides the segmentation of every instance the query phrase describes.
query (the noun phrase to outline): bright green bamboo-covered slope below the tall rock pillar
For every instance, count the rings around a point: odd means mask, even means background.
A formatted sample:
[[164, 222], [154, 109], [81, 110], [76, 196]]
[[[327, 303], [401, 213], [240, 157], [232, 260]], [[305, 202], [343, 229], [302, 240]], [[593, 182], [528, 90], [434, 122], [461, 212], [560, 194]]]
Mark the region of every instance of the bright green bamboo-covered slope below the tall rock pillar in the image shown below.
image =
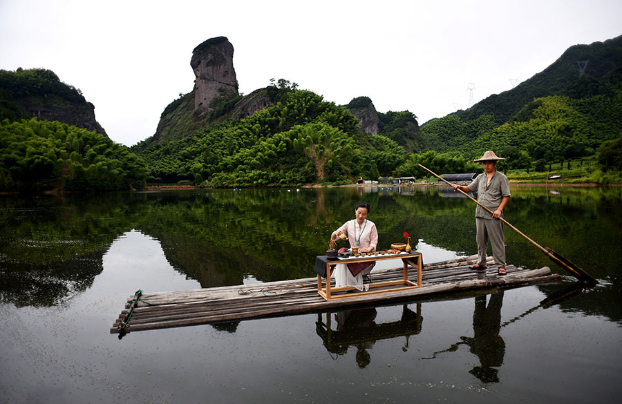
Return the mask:
[[406, 162], [404, 148], [383, 135], [359, 131], [348, 109], [310, 91], [270, 87], [265, 91], [278, 101], [245, 119], [132, 150], [149, 164], [153, 182], [206, 181], [211, 186], [295, 186], [359, 176], [377, 180]]

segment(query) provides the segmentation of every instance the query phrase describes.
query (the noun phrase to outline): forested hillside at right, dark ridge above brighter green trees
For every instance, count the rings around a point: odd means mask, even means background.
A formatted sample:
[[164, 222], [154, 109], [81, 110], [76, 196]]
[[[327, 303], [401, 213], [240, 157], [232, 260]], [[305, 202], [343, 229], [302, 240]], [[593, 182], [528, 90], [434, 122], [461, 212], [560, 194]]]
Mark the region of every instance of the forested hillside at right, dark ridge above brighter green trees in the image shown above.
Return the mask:
[[621, 137], [620, 117], [622, 36], [572, 46], [516, 88], [427, 122], [422, 138], [433, 151], [467, 158], [492, 149], [525, 169], [594, 155]]

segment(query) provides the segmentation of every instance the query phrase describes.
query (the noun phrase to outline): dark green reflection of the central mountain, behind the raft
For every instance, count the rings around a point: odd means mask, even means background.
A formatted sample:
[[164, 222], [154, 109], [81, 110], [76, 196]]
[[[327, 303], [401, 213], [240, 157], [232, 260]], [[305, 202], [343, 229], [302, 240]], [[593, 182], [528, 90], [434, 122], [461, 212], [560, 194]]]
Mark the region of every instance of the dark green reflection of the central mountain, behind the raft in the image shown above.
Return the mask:
[[[151, 212], [140, 229], [160, 240], [176, 269], [202, 285], [241, 283], [249, 273], [265, 282], [306, 278], [312, 276], [315, 256], [326, 251], [330, 233], [353, 218], [359, 197], [349, 190], [303, 192], [198, 192], [176, 204], [152, 193], [147, 195]], [[377, 195], [372, 198], [377, 205]], [[401, 220], [379, 209], [372, 215], [386, 224]], [[388, 238], [381, 231], [383, 237], [388, 247], [401, 241], [402, 232]], [[220, 280], [225, 283], [218, 285]]]

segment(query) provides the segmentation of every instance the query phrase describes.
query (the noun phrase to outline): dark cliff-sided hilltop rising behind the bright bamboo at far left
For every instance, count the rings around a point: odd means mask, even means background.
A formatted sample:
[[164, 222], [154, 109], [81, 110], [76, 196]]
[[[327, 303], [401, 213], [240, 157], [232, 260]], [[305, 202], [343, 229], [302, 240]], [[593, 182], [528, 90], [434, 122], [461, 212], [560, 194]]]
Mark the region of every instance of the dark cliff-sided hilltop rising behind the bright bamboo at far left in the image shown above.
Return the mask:
[[95, 120], [95, 106], [81, 91], [42, 68], [0, 70], [0, 121], [37, 117], [106, 135]]

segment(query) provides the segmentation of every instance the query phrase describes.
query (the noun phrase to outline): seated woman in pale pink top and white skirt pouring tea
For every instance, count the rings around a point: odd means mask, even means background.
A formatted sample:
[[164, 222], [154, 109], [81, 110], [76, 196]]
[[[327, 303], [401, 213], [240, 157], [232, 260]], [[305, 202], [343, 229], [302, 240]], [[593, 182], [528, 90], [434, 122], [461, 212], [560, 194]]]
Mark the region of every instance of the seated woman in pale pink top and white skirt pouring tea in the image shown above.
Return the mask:
[[[374, 251], [378, 245], [376, 225], [367, 219], [370, 206], [367, 202], [359, 202], [355, 208], [355, 219], [348, 220], [343, 226], [332, 232], [330, 240], [338, 240], [339, 235], [348, 235], [350, 247], [357, 247], [359, 253]], [[363, 276], [368, 275], [375, 262], [355, 264], [338, 264], [334, 269], [335, 287], [353, 286], [363, 290]]]

